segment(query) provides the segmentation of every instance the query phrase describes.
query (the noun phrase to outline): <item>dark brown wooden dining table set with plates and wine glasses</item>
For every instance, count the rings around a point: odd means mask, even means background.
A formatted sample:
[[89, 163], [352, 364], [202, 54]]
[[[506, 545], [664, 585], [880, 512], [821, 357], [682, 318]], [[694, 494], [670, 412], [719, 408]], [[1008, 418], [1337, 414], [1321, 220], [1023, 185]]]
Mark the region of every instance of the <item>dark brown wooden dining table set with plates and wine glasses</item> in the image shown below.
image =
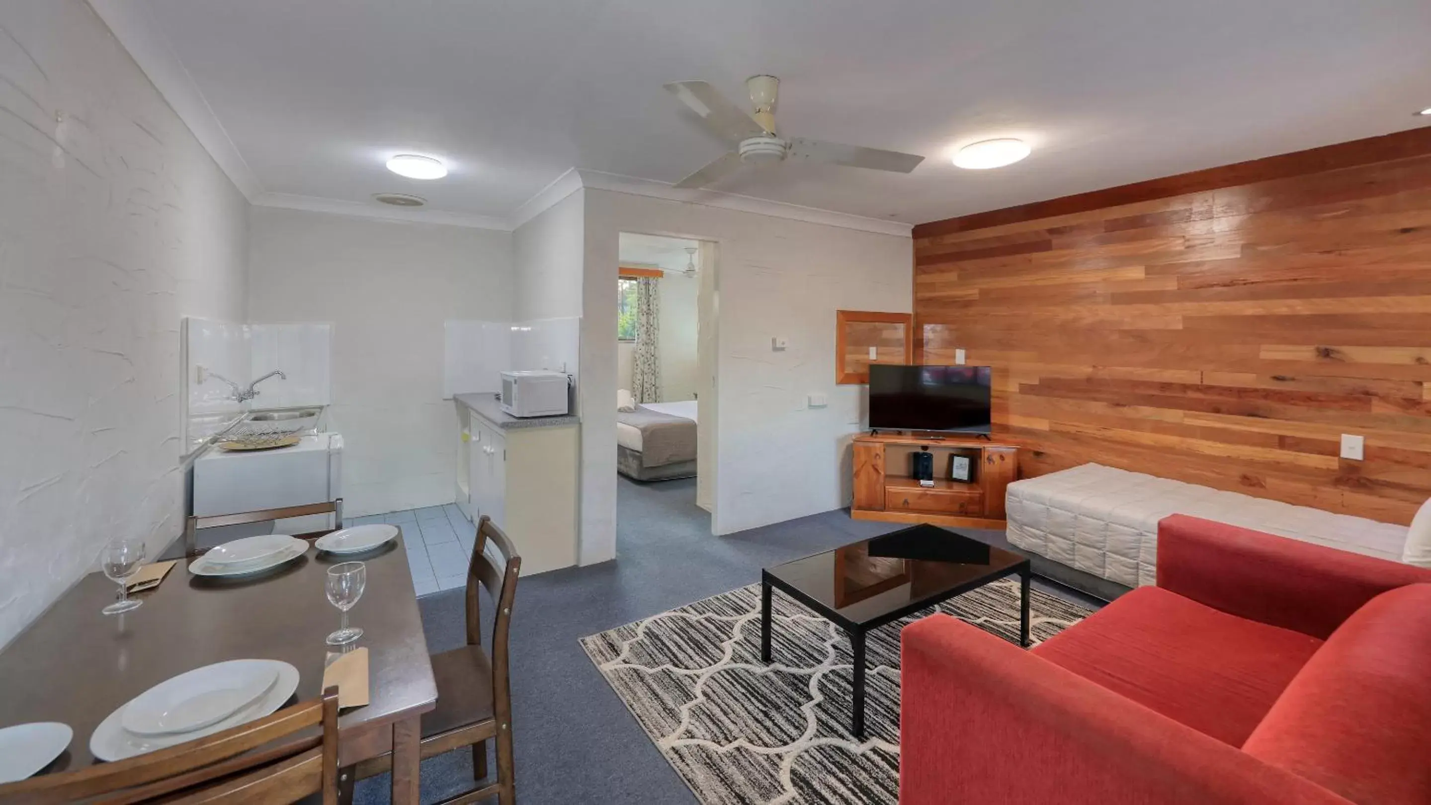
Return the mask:
[[436, 705], [408, 553], [399, 535], [361, 555], [309, 548], [302, 556], [252, 576], [187, 572], [182, 539], [160, 558], [179, 563], [143, 605], [103, 615], [119, 585], [94, 572], [80, 579], [0, 651], [0, 728], [57, 721], [74, 731], [69, 749], [41, 774], [84, 768], [96, 759], [94, 728], [149, 688], [186, 671], [229, 659], [275, 659], [299, 672], [295, 701], [322, 692], [331, 662], [325, 638], [339, 612], [328, 603], [331, 565], [362, 560], [366, 589], [349, 611], [368, 648], [369, 703], [339, 713], [339, 766], [351, 791], [352, 766], [392, 752], [392, 802], [418, 802], [421, 716]]

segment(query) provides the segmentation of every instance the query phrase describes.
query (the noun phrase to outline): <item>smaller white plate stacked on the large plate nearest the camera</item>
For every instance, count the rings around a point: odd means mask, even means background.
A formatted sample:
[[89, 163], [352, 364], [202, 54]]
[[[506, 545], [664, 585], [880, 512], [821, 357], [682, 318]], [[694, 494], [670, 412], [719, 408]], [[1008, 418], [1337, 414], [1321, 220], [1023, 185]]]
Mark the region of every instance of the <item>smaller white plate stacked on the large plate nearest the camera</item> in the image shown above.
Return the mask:
[[193, 732], [223, 721], [262, 696], [278, 668], [262, 659], [230, 659], [166, 679], [124, 705], [120, 725], [135, 735]]

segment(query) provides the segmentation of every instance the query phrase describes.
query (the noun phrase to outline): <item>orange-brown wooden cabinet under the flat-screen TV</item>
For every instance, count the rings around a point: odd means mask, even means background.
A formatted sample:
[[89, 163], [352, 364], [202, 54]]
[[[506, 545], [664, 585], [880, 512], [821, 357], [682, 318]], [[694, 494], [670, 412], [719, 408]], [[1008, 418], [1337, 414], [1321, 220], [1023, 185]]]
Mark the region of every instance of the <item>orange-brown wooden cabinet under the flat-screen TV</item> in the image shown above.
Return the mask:
[[[912, 453], [934, 455], [934, 486], [913, 478]], [[972, 479], [950, 479], [954, 456], [966, 456]], [[1019, 476], [1019, 448], [997, 440], [950, 435], [866, 433], [854, 438], [857, 520], [1005, 528], [1003, 493]]]

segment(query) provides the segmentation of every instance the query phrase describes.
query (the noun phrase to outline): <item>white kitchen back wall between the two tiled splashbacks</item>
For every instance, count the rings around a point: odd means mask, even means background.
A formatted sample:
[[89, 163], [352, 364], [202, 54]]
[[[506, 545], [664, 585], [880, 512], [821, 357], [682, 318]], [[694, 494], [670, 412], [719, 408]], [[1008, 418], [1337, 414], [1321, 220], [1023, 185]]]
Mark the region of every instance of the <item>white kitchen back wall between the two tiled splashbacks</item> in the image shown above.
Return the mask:
[[249, 275], [250, 320], [333, 323], [345, 513], [451, 503], [442, 322], [514, 319], [511, 233], [255, 207]]

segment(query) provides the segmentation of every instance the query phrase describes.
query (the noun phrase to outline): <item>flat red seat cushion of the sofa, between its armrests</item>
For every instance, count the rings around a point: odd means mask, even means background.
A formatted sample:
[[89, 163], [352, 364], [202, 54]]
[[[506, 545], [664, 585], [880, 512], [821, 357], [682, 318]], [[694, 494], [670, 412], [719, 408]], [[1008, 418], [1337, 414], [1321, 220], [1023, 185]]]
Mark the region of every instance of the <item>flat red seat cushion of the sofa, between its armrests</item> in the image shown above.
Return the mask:
[[1241, 746], [1321, 645], [1317, 638], [1145, 586], [1033, 653]]

